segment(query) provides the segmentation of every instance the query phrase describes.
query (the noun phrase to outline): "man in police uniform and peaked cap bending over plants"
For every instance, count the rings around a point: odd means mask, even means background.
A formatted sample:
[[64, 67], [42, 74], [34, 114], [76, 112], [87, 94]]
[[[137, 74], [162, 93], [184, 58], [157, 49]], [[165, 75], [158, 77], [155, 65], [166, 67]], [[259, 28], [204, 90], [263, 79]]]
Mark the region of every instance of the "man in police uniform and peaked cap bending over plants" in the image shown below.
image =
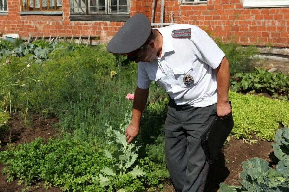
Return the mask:
[[152, 29], [143, 14], [129, 18], [107, 50], [138, 63], [127, 143], [139, 133], [149, 86], [155, 81], [170, 97], [165, 155], [175, 191], [203, 191], [209, 165], [200, 136], [216, 115], [222, 119], [231, 112], [229, 63], [223, 51], [197, 26], [175, 24]]

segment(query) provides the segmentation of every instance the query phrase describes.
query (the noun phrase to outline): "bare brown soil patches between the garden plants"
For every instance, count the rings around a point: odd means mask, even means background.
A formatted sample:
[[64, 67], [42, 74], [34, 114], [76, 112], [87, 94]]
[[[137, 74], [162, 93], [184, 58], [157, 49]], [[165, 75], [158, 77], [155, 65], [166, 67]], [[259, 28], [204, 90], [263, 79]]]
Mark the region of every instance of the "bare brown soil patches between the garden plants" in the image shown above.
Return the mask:
[[[56, 118], [41, 118], [34, 117], [30, 125], [23, 125], [23, 120], [18, 114], [12, 114], [10, 120], [11, 128], [11, 143], [17, 145], [19, 143], [28, 143], [35, 138], [42, 137], [48, 139], [50, 137], [57, 137], [60, 135], [60, 131], [53, 129], [53, 124], [57, 123]], [[9, 132], [0, 134], [0, 140], [2, 141], [2, 150], [5, 150], [6, 144], [9, 142]], [[253, 138], [256, 139], [256, 138]], [[269, 162], [269, 166], [275, 167], [278, 159], [274, 156], [272, 142], [257, 140], [256, 144], [246, 143], [243, 140], [230, 140], [226, 144], [225, 148], [219, 154], [219, 158], [210, 166], [208, 179], [205, 186], [205, 192], [217, 192], [219, 191], [219, 184], [225, 182], [230, 185], [239, 185], [239, 174], [242, 171], [242, 161], [249, 160], [253, 157], [259, 157]], [[0, 163], [0, 173], [2, 172], [4, 165]], [[46, 190], [43, 187], [43, 181], [35, 183], [27, 189], [27, 186], [17, 185], [18, 180], [12, 182], [6, 182], [7, 176], [0, 174], [0, 192], [21, 192], [26, 188], [26, 191], [49, 191], [60, 192], [60, 189], [51, 187]], [[173, 186], [164, 184], [166, 192], [174, 192]]]

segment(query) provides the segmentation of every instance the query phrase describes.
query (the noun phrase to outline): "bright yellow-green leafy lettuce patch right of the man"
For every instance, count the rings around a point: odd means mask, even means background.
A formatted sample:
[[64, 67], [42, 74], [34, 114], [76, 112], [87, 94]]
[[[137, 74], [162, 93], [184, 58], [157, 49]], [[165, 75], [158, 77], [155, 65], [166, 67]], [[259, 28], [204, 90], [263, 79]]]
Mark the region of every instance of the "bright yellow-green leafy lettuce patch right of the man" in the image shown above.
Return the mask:
[[232, 101], [235, 138], [250, 139], [254, 133], [262, 140], [273, 140], [279, 125], [289, 125], [289, 102], [259, 95], [229, 91]]

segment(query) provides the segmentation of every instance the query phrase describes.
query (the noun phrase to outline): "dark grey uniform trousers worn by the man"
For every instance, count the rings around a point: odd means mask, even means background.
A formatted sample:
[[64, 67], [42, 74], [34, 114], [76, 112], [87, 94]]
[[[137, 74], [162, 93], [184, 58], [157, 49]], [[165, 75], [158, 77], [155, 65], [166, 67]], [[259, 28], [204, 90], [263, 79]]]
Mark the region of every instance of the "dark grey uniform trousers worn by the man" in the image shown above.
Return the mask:
[[216, 115], [216, 103], [208, 107], [177, 106], [170, 99], [165, 123], [165, 154], [176, 192], [204, 190], [209, 164], [200, 136]]

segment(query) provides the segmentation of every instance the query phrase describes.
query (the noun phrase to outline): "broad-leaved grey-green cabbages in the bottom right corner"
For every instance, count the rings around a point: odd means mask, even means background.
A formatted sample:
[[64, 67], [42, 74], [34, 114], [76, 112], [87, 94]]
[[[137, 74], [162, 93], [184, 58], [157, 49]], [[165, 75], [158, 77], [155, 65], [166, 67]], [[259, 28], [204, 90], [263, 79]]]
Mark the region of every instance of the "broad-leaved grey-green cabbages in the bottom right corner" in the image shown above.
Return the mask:
[[260, 158], [242, 162], [240, 173], [241, 186], [220, 184], [220, 192], [289, 192], [289, 128], [279, 129], [275, 135], [276, 144], [272, 144], [275, 155], [281, 159], [276, 169]]

